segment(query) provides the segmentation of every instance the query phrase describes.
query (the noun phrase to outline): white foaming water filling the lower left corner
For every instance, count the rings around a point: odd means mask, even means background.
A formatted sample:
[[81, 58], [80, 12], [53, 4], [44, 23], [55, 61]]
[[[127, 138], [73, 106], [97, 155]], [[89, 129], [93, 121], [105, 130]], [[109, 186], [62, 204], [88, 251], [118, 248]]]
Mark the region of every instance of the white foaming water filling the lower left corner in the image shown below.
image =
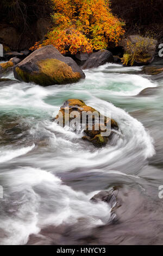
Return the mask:
[[90, 229], [104, 225], [110, 219], [108, 204], [92, 203], [89, 194], [72, 190], [45, 170], [24, 167], [0, 173], [0, 179], [2, 176], [6, 180], [6, 191], [10, 191], [5, 195], [6, 200], [12, 200], [16, 193], [16, 205], [19, 207], [13, 205], [14, 217], [8, 218], [6, 214], [1, 223], [5, 234], [1, 245], [24, 244], [30, 234], [39, 233], [40, 228], [47, 225], [70, 225], [82, 220], [82, 229]]

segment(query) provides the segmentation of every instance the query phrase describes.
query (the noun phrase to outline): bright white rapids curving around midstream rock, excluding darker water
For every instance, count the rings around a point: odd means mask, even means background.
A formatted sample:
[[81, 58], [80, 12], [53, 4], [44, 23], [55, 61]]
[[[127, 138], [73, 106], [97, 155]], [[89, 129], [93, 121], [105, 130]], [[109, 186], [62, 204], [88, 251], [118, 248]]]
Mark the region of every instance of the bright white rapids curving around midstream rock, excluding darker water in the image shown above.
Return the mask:
[[[82, 228], [111, 221], [110, 205], [90, 201], [109, 188], [103, 187], [103, 178], [101, 188], [92, 185], [98, 182], [96, 176], [139, 179], [140, 169], [155, 154], [150, 132], [112, 103], [132, 100], [142, 89], [158, 86], [140, 75], [140, 70], [106, 64], [86, 70], [85, 80], [66, 86], [17, 82], [0, 87], [1, 117], [12, 117], [21, 130], [14, 142], [0, 145], [0, 185], [5, 191], [0, 210], [1, 245], [26, 244], [30, 234], [38, 234], [48, 225], [79, 223], [82, 232]], [[12, 74], [8, 77], [14, 78]], [[97, 149], [81, 139], [82, 131], [72, 132], [52, 122], [67, 99], [84, 100], [102, 114], [109, 111], [120, 127], [110, 144]], [[77, 190], [73, 182], [80, 182]]]

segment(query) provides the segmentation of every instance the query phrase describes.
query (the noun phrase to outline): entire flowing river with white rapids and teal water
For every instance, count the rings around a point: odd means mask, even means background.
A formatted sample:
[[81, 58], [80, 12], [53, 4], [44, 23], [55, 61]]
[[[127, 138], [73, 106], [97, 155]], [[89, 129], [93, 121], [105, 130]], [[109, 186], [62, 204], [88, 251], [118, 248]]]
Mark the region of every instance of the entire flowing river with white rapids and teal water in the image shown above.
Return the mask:
[[[66, 86], [1, 82], [1, 245], [163, 244], [163, 80], [141, 69], [106, 64]], [[58, 126], [67, 99], [109, 111], [120, 131], [97, 149]], [[90, 200], [115, 186], [116, 221]]]

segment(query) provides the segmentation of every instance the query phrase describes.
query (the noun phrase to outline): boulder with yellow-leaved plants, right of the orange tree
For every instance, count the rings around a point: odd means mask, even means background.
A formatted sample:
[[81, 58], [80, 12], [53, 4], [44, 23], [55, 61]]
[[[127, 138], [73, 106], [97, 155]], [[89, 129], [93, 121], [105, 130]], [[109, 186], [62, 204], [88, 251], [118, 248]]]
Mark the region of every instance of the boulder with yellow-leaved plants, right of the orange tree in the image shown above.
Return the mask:
[[124, 64], [147, 65], [154, 59], [157, 40], [143, 38], [140, 35], [129, 35], [122, 40]]

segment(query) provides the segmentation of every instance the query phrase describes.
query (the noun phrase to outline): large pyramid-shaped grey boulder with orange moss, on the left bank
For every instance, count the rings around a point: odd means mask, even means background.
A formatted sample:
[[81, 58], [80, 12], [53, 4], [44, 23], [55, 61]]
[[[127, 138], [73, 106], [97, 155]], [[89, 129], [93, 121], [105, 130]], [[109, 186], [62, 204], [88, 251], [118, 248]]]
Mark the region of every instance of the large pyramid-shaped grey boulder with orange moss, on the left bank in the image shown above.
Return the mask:
[[34, 82], [41, 86], [73, 83], [85, 78], [82, 69], [70, 57], [52, 45], [37, 49], [14, 67], [17, 80]]

